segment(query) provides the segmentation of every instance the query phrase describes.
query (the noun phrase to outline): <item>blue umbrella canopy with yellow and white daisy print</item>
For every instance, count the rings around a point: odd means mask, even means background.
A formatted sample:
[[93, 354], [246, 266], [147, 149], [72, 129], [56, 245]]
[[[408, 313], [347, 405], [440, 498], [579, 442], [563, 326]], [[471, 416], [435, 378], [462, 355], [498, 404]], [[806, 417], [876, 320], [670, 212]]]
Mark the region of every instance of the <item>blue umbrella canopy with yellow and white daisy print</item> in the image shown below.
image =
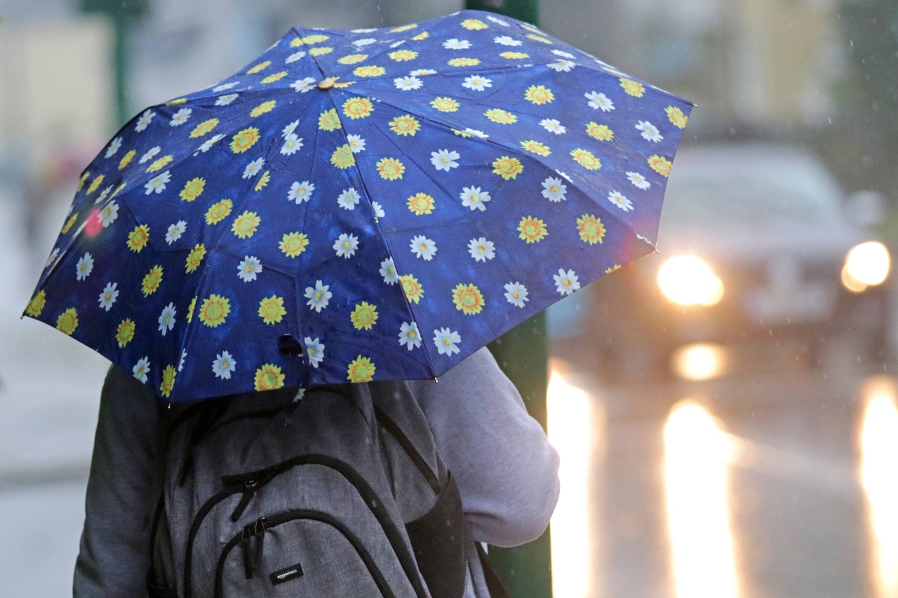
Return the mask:
[[436, 377], [653, 250], [690, 109], [490, 13], [293, 29], [121, 128], [25, 313], [170, 401]]

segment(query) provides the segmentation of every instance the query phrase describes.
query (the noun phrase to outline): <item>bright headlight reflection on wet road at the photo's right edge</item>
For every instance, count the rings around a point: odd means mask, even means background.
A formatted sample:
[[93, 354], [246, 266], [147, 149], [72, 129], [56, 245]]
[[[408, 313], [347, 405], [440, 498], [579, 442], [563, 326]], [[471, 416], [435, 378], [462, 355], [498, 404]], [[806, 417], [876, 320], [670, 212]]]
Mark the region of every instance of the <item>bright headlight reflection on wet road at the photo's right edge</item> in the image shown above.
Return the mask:
[[894, 381], [871, 379], [864, 388], [860, 481], [867, 495], [871, 574], [876, 596], [898, 595], [898, 408]]

